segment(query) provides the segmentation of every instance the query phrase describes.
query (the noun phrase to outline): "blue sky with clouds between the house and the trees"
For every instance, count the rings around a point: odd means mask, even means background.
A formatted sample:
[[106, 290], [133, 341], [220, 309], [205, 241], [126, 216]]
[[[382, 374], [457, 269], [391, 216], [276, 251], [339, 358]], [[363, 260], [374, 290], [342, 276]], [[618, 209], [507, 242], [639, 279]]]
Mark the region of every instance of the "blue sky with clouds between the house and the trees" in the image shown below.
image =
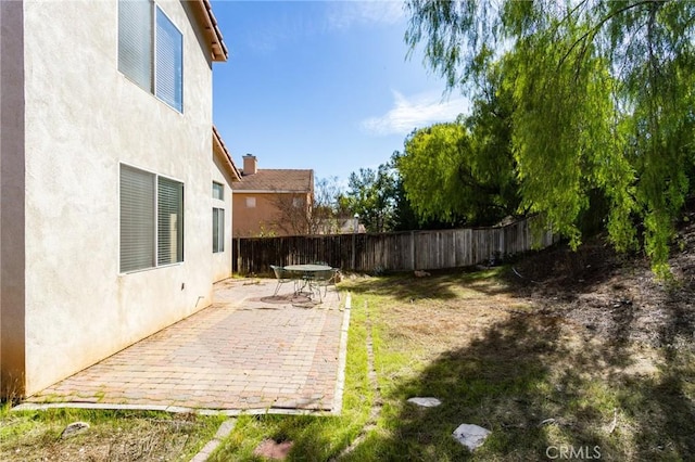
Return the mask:
[[376, 168], [407, 133], [467, 111], [406, 60], [399, 1], [213, 1], [229, 60], [213, 65], [217, 126], [235, 163], [338, 177]]

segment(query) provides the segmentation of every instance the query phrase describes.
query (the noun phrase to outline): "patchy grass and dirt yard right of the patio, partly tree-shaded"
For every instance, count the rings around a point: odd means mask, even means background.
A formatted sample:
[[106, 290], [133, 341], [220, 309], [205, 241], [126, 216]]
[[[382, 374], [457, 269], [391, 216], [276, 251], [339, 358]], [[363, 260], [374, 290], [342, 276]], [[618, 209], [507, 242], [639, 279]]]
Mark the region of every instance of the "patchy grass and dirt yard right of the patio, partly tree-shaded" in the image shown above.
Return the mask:
[[[446, 440], [438, 435], [475, 422], [495, 435], [476, 460], [546, 460], [544, 451], [563, 444], [599, 448], [605, 460], [688, 459], [693, 211], [669, 265], [672, 280], [660, 281], [644, 255], [618, 255], [598, 236], [577, 252], [558, 244], [491, 271], [346, 281], [372, 304], [380, 394], [399, 436], [378, 446], [396, 453], [402, 441], [418, 441], [418, 454], [439, 454]], [[431, 418], [402, 407], [412, 396], [447, 405]]]

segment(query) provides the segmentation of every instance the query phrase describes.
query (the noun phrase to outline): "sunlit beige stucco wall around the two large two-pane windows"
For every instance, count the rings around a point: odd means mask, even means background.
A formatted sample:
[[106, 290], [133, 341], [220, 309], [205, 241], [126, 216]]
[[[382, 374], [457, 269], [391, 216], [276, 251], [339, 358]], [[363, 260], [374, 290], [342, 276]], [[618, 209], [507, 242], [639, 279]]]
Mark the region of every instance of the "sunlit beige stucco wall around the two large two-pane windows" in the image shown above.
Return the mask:
[[[184, 114], [118, 72], [116, 0], [25, 0], [27, 394], [211, 303], [210, 53], [188, 7], [159, 4]], [[182, 264], [119, 274], [121, 163], [185, 183]]]

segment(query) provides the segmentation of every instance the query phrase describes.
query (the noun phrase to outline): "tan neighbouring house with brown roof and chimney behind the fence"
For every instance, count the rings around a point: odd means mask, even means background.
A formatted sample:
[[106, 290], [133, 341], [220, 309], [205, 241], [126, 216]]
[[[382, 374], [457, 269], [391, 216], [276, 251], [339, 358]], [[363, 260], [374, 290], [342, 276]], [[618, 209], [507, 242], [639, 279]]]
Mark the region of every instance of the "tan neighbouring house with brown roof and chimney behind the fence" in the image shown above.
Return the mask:
[[311, 230], [314, 170], [260, 169], [243, 156], [233, 188], [235, 236], [299, 235]]

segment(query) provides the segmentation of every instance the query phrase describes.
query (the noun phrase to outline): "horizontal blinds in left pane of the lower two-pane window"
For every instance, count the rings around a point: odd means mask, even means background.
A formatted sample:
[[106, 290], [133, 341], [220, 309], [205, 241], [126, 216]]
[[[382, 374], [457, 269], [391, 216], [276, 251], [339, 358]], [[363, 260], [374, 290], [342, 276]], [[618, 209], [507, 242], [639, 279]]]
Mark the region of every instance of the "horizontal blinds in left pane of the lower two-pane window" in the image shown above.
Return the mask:
[[121, 166], [121, 272], [154, 266], [154, 175]]

